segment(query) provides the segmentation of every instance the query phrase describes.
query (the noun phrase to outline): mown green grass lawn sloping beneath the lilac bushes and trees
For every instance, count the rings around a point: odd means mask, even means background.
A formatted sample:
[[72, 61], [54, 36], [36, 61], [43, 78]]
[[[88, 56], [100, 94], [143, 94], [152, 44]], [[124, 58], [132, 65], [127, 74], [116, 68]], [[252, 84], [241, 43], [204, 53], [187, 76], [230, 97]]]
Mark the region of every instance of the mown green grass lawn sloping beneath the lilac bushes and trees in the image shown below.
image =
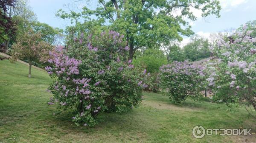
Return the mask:
[[205, 136], [196, 139], [192, 128], [252, 128], [256, 121], [240, 107], [226, 111], [223, 104], [186, 100], [171, 104], [166, 96], [144, 93], [143, 102], [131, 112], [104, 113], [94, 128], [75, 126], [72, 115], [55, 113], [48, 106], [51, 79], [46, 72], [0, 61], [0, 143], [233, 143], [256, 141], [252, 136]]

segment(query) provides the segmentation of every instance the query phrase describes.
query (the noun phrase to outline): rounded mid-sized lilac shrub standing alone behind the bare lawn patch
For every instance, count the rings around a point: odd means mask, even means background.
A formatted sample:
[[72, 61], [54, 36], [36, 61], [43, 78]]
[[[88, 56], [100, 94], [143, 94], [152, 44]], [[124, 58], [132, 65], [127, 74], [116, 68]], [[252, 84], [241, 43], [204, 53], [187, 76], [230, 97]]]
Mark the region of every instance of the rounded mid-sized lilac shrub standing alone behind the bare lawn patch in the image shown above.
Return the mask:
[[187, 97], [198, 99], [204, 80], [203, 68], [189, 62], [173, 62], [160, 67], [160, 83], [175, 104], [181, 104]]

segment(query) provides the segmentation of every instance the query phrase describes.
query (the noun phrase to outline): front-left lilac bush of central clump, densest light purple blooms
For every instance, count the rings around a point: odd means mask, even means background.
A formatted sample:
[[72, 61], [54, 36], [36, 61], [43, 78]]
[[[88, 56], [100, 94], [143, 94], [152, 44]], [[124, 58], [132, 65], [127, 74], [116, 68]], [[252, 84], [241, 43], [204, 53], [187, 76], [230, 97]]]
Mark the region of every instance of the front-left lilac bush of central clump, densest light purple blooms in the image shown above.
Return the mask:
[[92, 83], [90, 78], [80, 73], [81, 60], [69, 58], [61, 51], [62, 47], [51, 51], [52, 58], [48, 62], [52, 67], [45, 67], [50, 77], [55, 79], [48, 88], [53, 94], [48, 104], [59, 104], [60, 109], [75, 109], [73, 121], [76, 125], [94, 126], [94, 118], [105, 110], [104, 91], [98, 82]]

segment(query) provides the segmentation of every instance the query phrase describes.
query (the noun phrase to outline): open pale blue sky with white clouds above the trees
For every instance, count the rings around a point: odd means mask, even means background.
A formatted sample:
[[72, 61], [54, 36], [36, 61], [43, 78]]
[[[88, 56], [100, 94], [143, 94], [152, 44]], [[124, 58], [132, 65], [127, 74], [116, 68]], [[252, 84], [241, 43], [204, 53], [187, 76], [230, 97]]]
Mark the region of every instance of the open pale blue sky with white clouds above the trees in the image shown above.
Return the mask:
[[[70, 22], [69, 20], [61, 20], [55, 17], [58, 9], [68, 10], [70, 8], [79, 10], [85, 5], [90, 8], [95, 8], [97, 5], [96, 0], [90, 0], [90, 3], [86, 3], [86, 0], [75, 1], [78, 0], [30, 0], [29, 5], [37, 14], [38, 21], [45, 22], [53, 27], [64, 28], [70, 25]], [[220, 18], [214, 16], [204, 18], [200, 16], [200, 11], [192, 9], [193, 13], [198, 17], [197, 21], [190, 22], [192, 30], [196, 34], [207, 38], [211, 33], [238, 28], [249, 20], [256, 20], [256, 0], [220, 0], [220, 2], [222, 7]], [[179, 13], [179, 11], [176, 13]], [[189, 42], [189, 38], [184, 37], [182, 45], [187, 42]]]

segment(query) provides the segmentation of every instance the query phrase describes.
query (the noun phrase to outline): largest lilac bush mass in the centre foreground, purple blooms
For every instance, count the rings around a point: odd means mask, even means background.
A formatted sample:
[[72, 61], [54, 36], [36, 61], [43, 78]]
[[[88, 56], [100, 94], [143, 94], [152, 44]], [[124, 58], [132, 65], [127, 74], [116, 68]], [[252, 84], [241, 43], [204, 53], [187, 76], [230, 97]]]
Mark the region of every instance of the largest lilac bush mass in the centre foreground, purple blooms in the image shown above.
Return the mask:
[[100, 112], [126, 112], [140, 103], [148, 76], [127, 60], [123, 41], [115, 31], [81, 35], [67, 50], [69, 56], [61, 50], [50, 53], [53, 66], [46, 70], [57, 79], [49, 87], [52, 100], [57, 99], [61, 108], [76, 109], [76, 125], [94, 126]]

